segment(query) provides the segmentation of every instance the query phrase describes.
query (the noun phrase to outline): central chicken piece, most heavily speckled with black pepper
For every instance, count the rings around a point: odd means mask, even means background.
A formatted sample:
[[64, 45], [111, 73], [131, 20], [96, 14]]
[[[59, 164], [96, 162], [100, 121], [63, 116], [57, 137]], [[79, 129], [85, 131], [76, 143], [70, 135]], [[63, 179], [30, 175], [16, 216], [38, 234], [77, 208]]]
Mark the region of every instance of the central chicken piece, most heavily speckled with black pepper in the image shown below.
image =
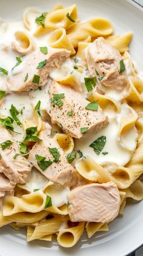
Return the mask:
[[[64, 93], [62, 106], [53, 105], [53, 94]], [[48, 115], [52, 118], [52, 123], [57, 123], [62, 130], [74, 138], [81, 138], [84, 133], [81, 128], [87, 127], [87, 133], [93, 130], [102, 129], [108, 123], [107, 116], [104, 115], [101, 108], [97, 111], [88, 110], [85, 107], [90, 103], [84, 99], [81, 94], [64, 85], [50, 81], [49, 94], [51, 99], [50, 109], [47, 110]], [[68, 112], [72, 112], [68, 115]]]

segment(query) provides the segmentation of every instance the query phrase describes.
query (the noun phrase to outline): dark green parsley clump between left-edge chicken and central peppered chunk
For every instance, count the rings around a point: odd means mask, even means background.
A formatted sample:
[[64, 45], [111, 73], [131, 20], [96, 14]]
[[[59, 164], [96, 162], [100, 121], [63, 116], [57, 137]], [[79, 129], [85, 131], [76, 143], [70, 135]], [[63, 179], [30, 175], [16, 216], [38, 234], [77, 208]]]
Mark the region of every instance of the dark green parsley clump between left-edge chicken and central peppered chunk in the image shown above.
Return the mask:
[[42, 141], [41, 138], [37, 137], [38, 129], [37, 126], [29, 127], [26, 129], [25, 141], [39, 142]]

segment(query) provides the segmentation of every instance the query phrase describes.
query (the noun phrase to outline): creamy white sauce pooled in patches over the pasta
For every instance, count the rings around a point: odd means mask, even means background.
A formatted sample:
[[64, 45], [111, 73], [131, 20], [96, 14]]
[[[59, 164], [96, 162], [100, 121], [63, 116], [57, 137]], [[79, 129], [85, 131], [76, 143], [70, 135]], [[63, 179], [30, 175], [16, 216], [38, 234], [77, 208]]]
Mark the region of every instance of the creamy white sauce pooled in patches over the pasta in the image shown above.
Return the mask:
[[[38, 16], [37, 12], [29, 13], [28, 20], [34, 21], [36, 16]], [[28, 55], [21, 57], [18, 52], [12, 51], [12, 42], [16, 41], [15, 32], [17, 30], [25, 31], [32, 38], [35, 49], [38, 49], [39, 46], [48, 46], [47, 38], [50, 34], [41, 35], [39, 37], [33, 37], [33, 32], [35, 31], [37, 25], [35, 22], [32, 23], [32, 30], [28, 31], [23, 22], [17, 23], [1, 23], [0, 24], [0, 63], [1, 67], [8, 71], [8, 76], [0, 73], [0, 90], [7, 90], [6, 80], [7, 77], [12, 76], [15, 73], [19, 73], [22, 71], [23, 65], [26, 62]], [[12, 68], [16, 64], [16, 57], [21, 57], [22, 63], [17, 66], [15, 69]], [[84, 66], [84, 62], [82, 60], [78, 60], [76, 63], [77, 66], [81, 68], [81, 71], [77, 71], [73, 66], [75, 65], [73, 59], [67, 59], [61, 66], [60, 69], [53, 69], [52, 73], [50, 73], [50, 77], [55, 80], [63, 80], [65, 77], [70, 76], [71, 74], [75, 77], [76, 82], [78, 82], [81, 87], [82, 93], [85, 98], [88, 96], [87, 88], [85, 87], [84, 77], [89, 76], [89, 72], [87, 67]], [[125, 62], [125, 66], [127, 69], [127, 76], [130, 76], [130, 66], [128, 62]], [[95, 88], [96, 90], [96, 88]], [[118, 91], [105, 88], [105, 95], [110, 96], [111, 99], [115, 99], [118, 103], [121, 101], [122, 95]], [[0, 108], [0, 116], [5, 118], [10, 116], [10, 107], [13, 104], [19, 112], [22, 110], [22, 115], [19, 113], [18, 118], [21, 120], [21, 123], [24, 123], [25, 120], [29, 120], [29, 127], [36, 126], [35, 121], [33, 119], [33, 107], [41, 101], [40, 111], [42, 115], [46, 115], [46, 110], [50, 106], [49, 96], [48, 96], [48, 85], [42, 87], [41, 90], [32, 90], [29, 93], [8, 93], [4, 99], [1, 101]], [[124, 111], [123, 111], [124, 110]], [[127, 133], [122, 135], [121, 141], [118, 139], [119, 133], [119, 124], [121, 118], [124, 116], [128, 116], [128, 107], [122, 104], [121, 112], [115, 113], [113, 109], [108, 107], [105, 108], [105, 114], [108, 115], [109, 124], [104, 129], [99, 132], [92, 132], [89, 135], [85, 135], [80, 140], [75, 140], [75, 149], [80, 149], [83, 155], [86, 157], [89, 155], [93, 160], [97, 163], [102, 164], [105, 162], [108, 163], [116, 163], [118, 165], [124, 166], [131, 158], [133, 151], [136, 148], [136, 140], [138, 138], [138, 132], [135, 126], [128, 130]], [[16, 140], [21, 141], [24, 138], [24, 131], [22, 131], [21, 127], [18, 127], [15, 124], [16, 132], [20, 132], [21, 135], [12, 132], [13, 137]], [[102, 152], [108, 152], [107, 155], [101, 154], [97, 155], [92, 148], [90, 148], [90, 144], [93, 143], [97, 138], [102, 135], [106, 136], [106, 143]], [[42, 153], [41, 153], [42, 155]], [[26, 186], [30, 191], [34, 189], [40, 189], [44, 187], [47, 179], [39, 173], [39, 171], [32, 171], [32, 176], [29, 182], [27, 182]], [[67, 194], [69, 193], [68, 188], [63, 188], [60, 185], [56, 185], [56, 187], [51, 187], [48, 190], [48, 195], [52, 196], [53, 205], [57, 207], [62, 204], [67, 203]]]

